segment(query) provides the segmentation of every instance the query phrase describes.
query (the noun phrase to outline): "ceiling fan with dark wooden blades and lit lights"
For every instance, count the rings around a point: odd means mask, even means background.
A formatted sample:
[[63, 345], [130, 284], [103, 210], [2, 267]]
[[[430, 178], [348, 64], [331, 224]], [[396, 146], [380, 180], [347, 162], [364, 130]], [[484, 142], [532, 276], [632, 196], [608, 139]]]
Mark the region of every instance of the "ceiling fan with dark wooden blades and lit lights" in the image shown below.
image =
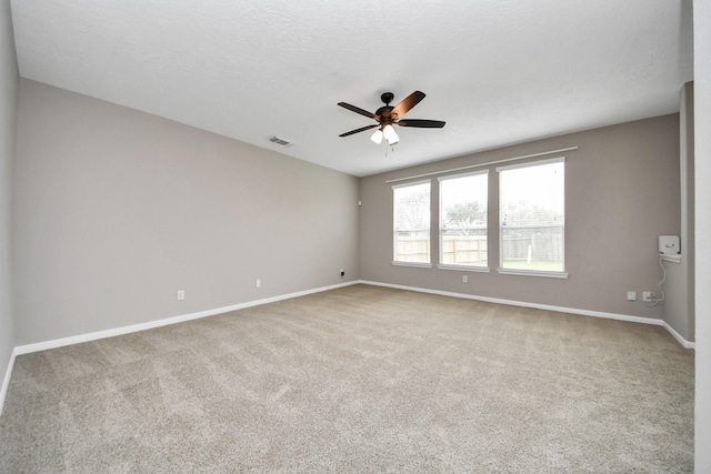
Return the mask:
[[424, 92], [414, 91], [395, 107], [390, 105], [390, 102], [392, 102], [394, 94], [392, 92], [385, 92], [380, 95], [380, 100], [382, 100], [385, 104], [378, 109], [375, 113], [369, 112], [356, 105], [351, 105], [350, 103], [339, 102], [338, 104], [342, 108], [351, 110], [356, 113], [360, 113], [361, 115], [369, 117], [378, 122], [373, 123], [372, 125], [361, 127], [360, 129], [341, 133], [339, 137], [349, 137], [354, 133], [364, 132], [365, 130], [374, 129], [375, 127], [378, 127], [378, 130], [375, 130], [375, 133], [373, 133], [370, 139], [375, 143], [380, 143], [382, 142], [382, 139], [384, 137], [388, 141], [388, 144], [393, 145], [400, 141], [400, 138], [395, 133], [395, 129], [392, 125], [417, 127], [420, 129], [441, 129], [442, 127], [444, 127], [444, 122], [440, 120], [402, 120], [402, 115], [408, 113], [410, 109], [412, 109], [414, 105], [420, 103], [422, 99], [424, 99]]

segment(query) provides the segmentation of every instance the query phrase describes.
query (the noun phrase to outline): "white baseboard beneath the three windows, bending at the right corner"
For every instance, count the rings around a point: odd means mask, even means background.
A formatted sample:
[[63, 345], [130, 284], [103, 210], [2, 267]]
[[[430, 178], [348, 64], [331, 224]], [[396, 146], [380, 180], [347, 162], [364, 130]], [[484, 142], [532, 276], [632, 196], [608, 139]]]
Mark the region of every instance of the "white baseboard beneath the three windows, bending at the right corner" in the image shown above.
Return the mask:
[[439, 294], [442, 296], [452, 296], [452, 297], [462, 297], [465, 300], [484, 301], [488, 303], [509, 304], [512, 306], [534, 307], [537, 310], [557, 311], [560, 313], [569, 313], [569, 314], [580, 314], [582, 316], [602, 317], [605, 320], [617, 320], [617, 321], [627, 321], [631, 323], [651, 324], [651, 325], [664, 327], [685, 349], [695, 349], [695, 343], [683, 339], [681, 334], [674, 331], [674, 329], [671, 327], [669, 324], [667, 324], [665, 321], [658, 320], [654, 317], [632, 316], [629, 314], [605, 313], [602, 311], [581, 310], [578, 307], [553, 306], [550, 304], [529, 303], [523, 301], [503, 300], [499, 297], [489, 297], [489, 296], [477, 296], [477, 295], [467, 294], [467, 293], [453, 293], [449, 291], [430, 290], [430, 289], [417, 288], [417, 286], [404, 286], [404, 285], [398, 285], [398, 284], [390, 284], [390, 283], [371, 282], [365, 280], [361, 280], [360, 283], [370, 284], [374, 286], [393, 288], [398, 290], [415, 291], [420, 293]]

